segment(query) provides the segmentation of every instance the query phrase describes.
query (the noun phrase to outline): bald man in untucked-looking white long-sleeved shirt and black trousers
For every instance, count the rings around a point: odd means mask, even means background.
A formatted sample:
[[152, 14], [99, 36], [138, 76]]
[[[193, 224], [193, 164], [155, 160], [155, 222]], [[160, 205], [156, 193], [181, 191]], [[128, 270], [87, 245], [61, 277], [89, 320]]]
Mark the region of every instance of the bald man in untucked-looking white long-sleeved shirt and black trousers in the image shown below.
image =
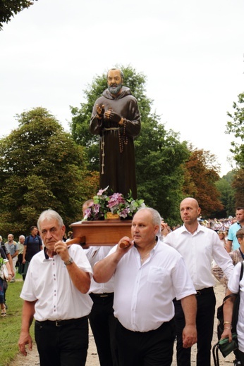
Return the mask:
[[[180, 209], [184, 225], [167, 235], [164, 243], [181, 253], [193, 280], [197, 291], [197, 366], [210, 366], [216, 305], [214, 278], [211, 273], [212, 258], [227, 278], [231, 275], [233, 263], [221, 245], [218, 234], [198, 223], [197, 217], [201, 209], [197, 201], [194, 198], [185, 198]], [[190, 348], [183, 347], [181, 336], [185, 326], [181, 303], [175, 301], [175, 308], [177, 365], [190, 366]]]

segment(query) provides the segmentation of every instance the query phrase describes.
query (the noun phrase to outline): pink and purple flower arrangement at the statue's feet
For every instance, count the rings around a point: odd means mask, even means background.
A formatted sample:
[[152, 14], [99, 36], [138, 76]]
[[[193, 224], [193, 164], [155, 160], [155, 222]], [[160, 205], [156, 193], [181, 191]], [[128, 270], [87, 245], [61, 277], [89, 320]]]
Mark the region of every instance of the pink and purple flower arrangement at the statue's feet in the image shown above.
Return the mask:
[[116, 213], [119, 217], [132, 218], [139, 208], [146, 207], [143, 199], [134, 199], [131, 191], [125, 197], [121, 193], [109, 196], [108, 187], [99, 189], [92, 198], [93, 205], [85, 210], [84, 220], [106, 220], [108, 213]]

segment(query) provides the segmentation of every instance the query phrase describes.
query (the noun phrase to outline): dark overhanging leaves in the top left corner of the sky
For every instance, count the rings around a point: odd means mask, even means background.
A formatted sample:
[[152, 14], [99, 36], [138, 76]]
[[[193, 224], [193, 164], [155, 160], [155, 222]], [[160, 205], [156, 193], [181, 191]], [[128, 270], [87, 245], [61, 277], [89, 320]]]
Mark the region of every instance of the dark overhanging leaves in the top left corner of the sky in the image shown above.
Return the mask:
[[34, 3], [31, 0], [0, 0], [0, 30], [3, 29], [4, 23], [11, 20], [12, 16], [29, 8], [32, 4]]

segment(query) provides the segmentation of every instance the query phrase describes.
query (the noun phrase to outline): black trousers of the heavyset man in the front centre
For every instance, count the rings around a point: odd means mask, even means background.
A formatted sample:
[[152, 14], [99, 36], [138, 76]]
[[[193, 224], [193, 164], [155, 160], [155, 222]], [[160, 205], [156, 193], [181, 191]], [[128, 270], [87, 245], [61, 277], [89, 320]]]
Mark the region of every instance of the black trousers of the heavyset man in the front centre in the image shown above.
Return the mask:
[[132, 332], [118, 322], [116, 340], [119, 365], [170, 366], [175, 336], [173, 320], [150, 332]]

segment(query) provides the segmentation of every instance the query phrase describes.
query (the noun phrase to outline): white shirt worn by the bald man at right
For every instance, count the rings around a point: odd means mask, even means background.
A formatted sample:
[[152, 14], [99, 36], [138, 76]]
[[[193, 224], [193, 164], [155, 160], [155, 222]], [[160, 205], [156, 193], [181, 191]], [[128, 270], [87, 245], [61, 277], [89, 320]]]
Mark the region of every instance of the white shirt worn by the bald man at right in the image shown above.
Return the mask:
[[191, 234], [183, 225], [169, 233], [164, 243], [181, 253], [196, 290], [214, 286], [215, 280], [211, 272], [212, 258], [227, 278], [231, 275], [233, 270], [231, 257], [223, 248], [219, 235], [212, 229], [198, 224], [197, 230]]

